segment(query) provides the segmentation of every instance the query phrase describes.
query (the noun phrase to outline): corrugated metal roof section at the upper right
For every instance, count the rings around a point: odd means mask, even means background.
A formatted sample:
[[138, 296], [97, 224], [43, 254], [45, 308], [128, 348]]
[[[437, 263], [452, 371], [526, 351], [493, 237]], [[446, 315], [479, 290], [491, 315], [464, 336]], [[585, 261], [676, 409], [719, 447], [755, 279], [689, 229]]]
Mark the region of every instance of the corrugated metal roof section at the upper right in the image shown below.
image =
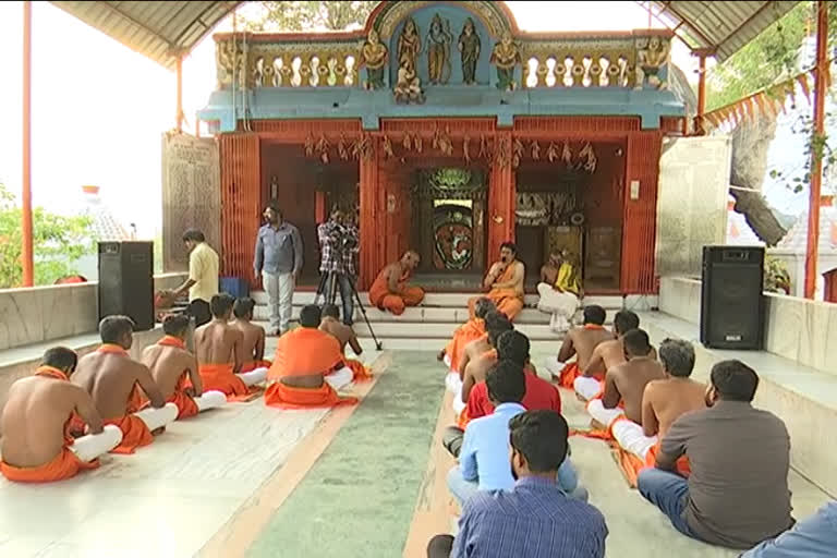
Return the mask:
[[735, 54], [798, 1], [652, 2], [653, 11], [692, 50], [714, 52], [718, 62]]

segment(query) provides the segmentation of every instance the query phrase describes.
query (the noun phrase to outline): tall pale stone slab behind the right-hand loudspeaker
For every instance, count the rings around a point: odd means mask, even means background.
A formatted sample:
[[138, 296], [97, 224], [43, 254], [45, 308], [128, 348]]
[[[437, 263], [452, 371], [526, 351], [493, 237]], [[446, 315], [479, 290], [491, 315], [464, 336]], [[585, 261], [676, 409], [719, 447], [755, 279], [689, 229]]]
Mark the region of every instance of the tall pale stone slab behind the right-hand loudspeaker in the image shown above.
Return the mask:
[[728, 136], [676, 137], [663, 145], [657, 197], [657, 275], [701, 275], [703, 246], [727, 230]]

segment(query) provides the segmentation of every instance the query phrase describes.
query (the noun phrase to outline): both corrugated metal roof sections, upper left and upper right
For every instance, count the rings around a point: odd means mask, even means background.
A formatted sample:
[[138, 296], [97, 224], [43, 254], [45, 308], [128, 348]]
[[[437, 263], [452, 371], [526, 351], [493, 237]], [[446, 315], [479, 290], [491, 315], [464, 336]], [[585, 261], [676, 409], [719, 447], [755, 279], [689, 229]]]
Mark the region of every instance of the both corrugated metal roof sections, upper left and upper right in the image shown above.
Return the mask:
[[[242, 2], [97, 1], [53, 4], [168, 69]], [[646, 2], [640, 2], [646, 3]], [[747, 45], [796, 1], [652, 2], [657, 17], [694, 49], [725, 60]], [[647, 3], [646, 3], [647, 5]]]

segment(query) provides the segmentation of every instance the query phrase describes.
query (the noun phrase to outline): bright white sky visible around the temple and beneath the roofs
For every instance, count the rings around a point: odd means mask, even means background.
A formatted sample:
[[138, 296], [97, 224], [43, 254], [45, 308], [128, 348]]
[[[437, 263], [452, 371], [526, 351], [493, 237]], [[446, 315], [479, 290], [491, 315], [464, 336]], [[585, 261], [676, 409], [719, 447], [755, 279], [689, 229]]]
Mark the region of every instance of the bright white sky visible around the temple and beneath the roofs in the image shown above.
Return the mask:
[[[525, 31], [645, 28], [635, 2], [508, 2]], [[595, 5], [594, 5], [595, 4]], [[21, 191], [22, 2], [0, 2], [0, 182]], [[653, 27], [662, 27], [653, 21]], [[231, 31], [230, 19], [216, 32]], [[696, 62], [675, 41], [672, 59], [692, 78]], [[216, 84], [207, 36], [184, 61], [185, 130]], [[161, 222], [161, 134], [174, 128], [175, 76], [49, 2], [33, 2], [32, 189], [35, 205], [66, 213], [83, 184], [140, 238]]]

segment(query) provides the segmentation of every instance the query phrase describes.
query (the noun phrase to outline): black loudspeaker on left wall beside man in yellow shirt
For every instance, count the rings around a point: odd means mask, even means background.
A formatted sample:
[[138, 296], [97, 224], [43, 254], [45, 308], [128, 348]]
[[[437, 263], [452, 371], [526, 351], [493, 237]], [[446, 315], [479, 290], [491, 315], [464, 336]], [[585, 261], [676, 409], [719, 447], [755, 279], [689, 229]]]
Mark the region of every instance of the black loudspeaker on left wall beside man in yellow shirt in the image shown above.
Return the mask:
[[99, 319], [114, 314], [154, 328], [153, 242], [99, 242]]

